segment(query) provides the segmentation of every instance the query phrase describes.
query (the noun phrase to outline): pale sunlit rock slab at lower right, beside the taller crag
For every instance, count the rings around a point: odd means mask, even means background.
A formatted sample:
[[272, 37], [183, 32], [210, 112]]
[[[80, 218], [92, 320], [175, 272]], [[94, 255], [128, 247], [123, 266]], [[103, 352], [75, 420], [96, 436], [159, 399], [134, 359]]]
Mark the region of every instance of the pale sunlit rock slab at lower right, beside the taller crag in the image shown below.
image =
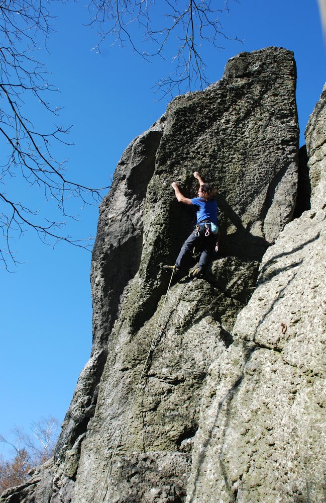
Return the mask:
[[263, 257], [209, 369], [188, 503], [326, 500], [326, 92], [306, 128], [311, 209]]

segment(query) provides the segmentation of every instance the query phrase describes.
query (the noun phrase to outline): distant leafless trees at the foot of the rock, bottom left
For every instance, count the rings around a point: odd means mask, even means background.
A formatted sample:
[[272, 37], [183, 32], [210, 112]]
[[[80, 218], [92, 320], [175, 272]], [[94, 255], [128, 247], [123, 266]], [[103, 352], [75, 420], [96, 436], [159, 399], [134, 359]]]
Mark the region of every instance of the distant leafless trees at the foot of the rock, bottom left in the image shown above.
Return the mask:
[[0, 435], [0, 443], [10, 446], [13, 454], [9, 459], [0, 456], [0, 494], [9, 487], [22, 484], [32, 468], [50, 459], [58, 430], [59, 423], [54, 417], [41, 417], [40, 421], [32, 423], [30, 434], [15, 426], [11, 440]]

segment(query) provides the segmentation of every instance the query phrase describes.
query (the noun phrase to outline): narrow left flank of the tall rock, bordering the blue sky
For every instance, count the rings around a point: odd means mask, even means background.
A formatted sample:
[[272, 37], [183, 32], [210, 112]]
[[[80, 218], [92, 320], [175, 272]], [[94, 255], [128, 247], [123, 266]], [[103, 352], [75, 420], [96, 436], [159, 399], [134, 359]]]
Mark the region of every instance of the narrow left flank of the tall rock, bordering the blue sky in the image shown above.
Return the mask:
[[[93, 345], [67, 411], [55, 458], [87, 430], [94, 413], [97, 386], [107, 356], [107, 340], [118, 315], [120, 297], [139, 268], [142, 214], [146, 188], [155, 166], [164, 118], [137, 137], [119, 161], [111, 190], [100, 205], [91, 267]], [[126, 175], [128, 174], [128, 177]]]

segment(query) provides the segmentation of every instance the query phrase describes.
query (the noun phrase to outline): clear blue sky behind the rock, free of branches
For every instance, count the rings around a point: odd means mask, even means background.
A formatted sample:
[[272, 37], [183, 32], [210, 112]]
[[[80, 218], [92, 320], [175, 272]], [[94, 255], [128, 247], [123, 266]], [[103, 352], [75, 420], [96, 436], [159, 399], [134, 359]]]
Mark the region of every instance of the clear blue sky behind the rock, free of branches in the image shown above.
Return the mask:
[[[221, 17], [224, 31], [243, 43], [224, 40], [224, 50], [207, 52], [209, 80], [220, 79], [228, 59], [241, 51], [271, 45], [293, 50], [302, 145], [325, 81], [316, 0], [242, 0], [230, 2], [230, 7], [229, 16]], [[48, 43], [50, 53], [43, 51], [42, 57], [61, 91], [52, 98], [64, 106], [59, 124], [73, 124], [69, 139], [74, 142], [57, 154], [69, 157], [71, 179], [93, 187], [110, 185], [123, 150], [166, 109], [167, 99], [156, 101], [153, 84], [171, 71], [170, 59], [149, 64], [130, 48], [110, 43], [96, 54], [90, 50], [96, 33], [85, 26], [83, 4], [54, 3], [54, 8], [56, 33]], [[35, 115], [34, 120], [51, 125], [52, 118]], [[81, 221], [69, 224], [68, 232], [78, 237], [95, 234], [97, 215], [97, 207], [83, 209]], [[14, 274], [0, 271], [2, 434], [13, 424], [27, 428], [42, 415], [63, 420], [92, 338], [90, 253], [65, 243], [53, 250], [32, 232], [18, 240], [16, 248], [26, 262]]]

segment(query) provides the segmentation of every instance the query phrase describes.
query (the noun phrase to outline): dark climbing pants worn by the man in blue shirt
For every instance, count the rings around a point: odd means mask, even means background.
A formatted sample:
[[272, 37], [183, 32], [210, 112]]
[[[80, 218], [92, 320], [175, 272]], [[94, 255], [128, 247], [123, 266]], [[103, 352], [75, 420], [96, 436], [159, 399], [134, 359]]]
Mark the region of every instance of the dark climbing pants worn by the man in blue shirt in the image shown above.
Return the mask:
[[196, 231], [191, 232], [190, 236], [185, 240], [176, 260], [175, 266], [182, 269], [187, 257], [192, 252], [193, 247], [200, 245], [202, 249], [199, 266], [205, 268], [209, 262], [209, 259], [214, 253], [216, 246], [217, 236], [209, 232], [208, 236], [205, 236], [206, 228], [201, 225], [199, 228], [199, 236], [196, 236]]

